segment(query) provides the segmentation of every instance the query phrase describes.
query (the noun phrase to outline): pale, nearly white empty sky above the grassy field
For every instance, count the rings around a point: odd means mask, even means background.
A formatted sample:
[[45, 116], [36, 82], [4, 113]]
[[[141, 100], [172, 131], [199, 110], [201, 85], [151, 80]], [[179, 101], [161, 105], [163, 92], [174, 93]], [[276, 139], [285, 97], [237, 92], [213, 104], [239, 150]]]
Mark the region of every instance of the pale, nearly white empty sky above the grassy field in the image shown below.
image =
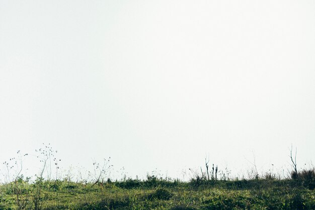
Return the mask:
[[236, 176], [254, 157], [260, 173], [287, 172], [292, 145], [310, 167], [314, 11], [314, 1], [0, 0], [0, 162], [21, 150], [38, 171], [35, 149], [50, 144], [64, 170], [111, 157], [113, 178], [185, 178], [207, 157]]

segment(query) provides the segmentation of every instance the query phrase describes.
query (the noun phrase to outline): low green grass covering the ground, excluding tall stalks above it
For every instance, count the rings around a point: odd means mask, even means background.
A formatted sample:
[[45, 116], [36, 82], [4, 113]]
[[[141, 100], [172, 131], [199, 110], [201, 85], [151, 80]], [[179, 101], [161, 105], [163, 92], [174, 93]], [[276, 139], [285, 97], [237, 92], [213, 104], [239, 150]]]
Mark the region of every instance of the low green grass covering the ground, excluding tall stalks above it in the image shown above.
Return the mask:
[[0, 209], [315, 209], [313, 178], [182, 182], [148, 176], [94, 186], [19, 179], [0, 186]]

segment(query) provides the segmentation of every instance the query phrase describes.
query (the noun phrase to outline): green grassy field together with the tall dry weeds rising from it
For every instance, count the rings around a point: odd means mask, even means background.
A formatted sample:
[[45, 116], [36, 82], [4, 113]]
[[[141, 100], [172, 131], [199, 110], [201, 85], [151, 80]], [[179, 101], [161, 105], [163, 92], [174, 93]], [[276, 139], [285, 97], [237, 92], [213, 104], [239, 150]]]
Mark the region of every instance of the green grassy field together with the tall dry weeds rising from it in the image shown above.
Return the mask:
[[41, 170], [34, 180], [22, 175], [23, 158], [28, 154], [18, 151], [17, 158], [3, 163], [10, 181], [0, 183], [0, 210], [315, 209], [315, 168], [298, 171], [292, 153], [293, 170], [286, 179], [270, 173], [259, 175], [257, 170], [250, 179], [230, 180], [228, 175], [217, 178], [217, 167], [213, 164], [209, 171], [206, 161], [206, 170], [194, 172], [190, 181], [155, 175], [147, 175], [144, 180], [125, 177], [112, 181], [106, 178], [112, 165], [109, 159], [104, 159], [102, 164], [94, 161], [93, 179], [73, 182], [70, 178], [50, 178], [52, 166], [54, 177], [58, 177], [57, 151], [45, 146], [36, 152]]

